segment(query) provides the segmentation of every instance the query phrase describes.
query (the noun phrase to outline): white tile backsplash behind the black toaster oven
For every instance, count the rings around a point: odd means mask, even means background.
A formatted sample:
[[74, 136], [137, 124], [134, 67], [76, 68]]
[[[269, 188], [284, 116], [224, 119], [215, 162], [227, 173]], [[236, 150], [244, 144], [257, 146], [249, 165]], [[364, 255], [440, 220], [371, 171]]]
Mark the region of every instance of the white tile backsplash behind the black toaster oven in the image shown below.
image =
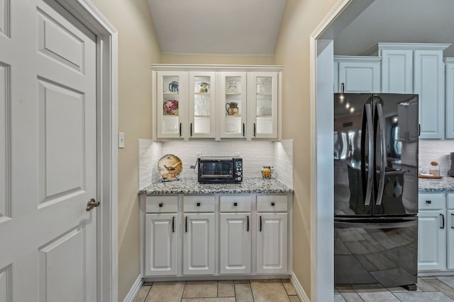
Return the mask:
[[284, 141], [151, 141], [139, 139], [139, 190], [160, 180], [157, 161], [165, 154], [175, 154], [183, 163], [182, 178], [196, 178], [190, 165], [199, 156], [239, 156], [243, 175], [262, 176], [263, 165], [272, 165], [273, 177], [293, 187], [293, 140]]

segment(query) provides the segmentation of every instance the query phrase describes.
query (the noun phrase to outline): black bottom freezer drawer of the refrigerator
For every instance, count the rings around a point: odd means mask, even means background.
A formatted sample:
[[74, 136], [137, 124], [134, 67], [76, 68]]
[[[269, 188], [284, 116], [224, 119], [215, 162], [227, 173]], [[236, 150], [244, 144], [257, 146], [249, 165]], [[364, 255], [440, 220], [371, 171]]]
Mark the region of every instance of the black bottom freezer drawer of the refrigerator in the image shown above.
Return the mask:
[[334, 222], [334, 283], [384, 287], [416, 284], [418, 220]]

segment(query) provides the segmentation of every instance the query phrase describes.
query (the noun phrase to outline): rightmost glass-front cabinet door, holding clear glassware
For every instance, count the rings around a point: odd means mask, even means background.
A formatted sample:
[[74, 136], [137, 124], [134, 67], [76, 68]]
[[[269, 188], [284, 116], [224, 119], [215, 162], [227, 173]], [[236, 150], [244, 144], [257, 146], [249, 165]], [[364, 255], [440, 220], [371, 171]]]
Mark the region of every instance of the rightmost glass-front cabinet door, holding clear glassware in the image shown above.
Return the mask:
[[252, 72], [248, 78], [248, 134], [277, 139], [277, 72]]

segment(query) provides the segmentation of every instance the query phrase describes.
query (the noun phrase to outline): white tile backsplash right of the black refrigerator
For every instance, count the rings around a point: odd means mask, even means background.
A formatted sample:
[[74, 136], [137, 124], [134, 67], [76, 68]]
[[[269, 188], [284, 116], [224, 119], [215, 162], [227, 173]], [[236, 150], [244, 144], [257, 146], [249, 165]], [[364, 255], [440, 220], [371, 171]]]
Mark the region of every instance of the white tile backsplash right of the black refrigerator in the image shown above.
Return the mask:
[[448, 175], [450, 153], [454, 152], [454, 140], [419, 140], [419, 167], [427, 173], [431, 161], [438, 161], [440, 174]]

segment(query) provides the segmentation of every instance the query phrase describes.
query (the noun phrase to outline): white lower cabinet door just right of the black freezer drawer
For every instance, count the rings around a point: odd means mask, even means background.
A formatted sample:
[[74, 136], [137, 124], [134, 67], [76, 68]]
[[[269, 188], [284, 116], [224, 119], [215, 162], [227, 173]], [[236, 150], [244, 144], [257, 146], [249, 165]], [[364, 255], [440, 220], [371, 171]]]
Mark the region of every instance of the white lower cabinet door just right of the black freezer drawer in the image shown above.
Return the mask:
[[445, 211], [418, 213], [418, 270], [446, 268]]

